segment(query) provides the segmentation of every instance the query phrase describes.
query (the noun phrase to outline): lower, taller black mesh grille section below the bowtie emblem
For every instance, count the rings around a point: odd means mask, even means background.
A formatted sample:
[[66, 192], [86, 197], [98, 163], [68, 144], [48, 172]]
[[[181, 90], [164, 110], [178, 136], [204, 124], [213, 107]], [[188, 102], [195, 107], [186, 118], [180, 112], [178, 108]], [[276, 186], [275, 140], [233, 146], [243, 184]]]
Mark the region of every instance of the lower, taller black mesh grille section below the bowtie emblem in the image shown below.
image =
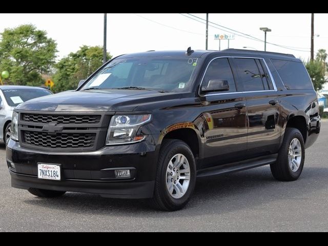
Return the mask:
[[96, 133], [56, 133], [24, 131], [24, 142], [37, 147], [64, 148], [93, 148]]

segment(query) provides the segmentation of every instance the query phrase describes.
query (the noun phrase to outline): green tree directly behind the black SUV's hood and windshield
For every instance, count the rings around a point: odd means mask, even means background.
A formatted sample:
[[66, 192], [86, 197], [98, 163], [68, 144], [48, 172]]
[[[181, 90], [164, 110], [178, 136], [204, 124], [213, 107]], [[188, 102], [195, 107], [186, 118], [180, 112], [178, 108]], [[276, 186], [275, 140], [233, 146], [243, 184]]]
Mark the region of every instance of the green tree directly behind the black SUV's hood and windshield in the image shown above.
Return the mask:
[[[107, 53], [107, 59], [111, 59]], [[103, 47], [82, 46], [75, 53], [70, 53], [55, 65], [56, 72], [53, 76], [55, 83], [54, 92], [73, 90], [77, 88], [81, 79], [86, 79], [97, 68], [103, 65]]]

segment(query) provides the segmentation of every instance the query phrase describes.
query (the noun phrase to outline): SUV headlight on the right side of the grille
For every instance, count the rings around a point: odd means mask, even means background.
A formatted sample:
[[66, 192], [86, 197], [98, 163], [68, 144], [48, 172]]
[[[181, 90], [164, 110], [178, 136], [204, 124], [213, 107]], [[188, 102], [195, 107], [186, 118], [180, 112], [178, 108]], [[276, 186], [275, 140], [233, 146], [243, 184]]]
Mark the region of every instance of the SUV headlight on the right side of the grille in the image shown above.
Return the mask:
[[140, 126], [151, 119], [151, 114], [114, 115], [107, 132], [107, 145], [131, 144], [146, 138], [137, 135]]

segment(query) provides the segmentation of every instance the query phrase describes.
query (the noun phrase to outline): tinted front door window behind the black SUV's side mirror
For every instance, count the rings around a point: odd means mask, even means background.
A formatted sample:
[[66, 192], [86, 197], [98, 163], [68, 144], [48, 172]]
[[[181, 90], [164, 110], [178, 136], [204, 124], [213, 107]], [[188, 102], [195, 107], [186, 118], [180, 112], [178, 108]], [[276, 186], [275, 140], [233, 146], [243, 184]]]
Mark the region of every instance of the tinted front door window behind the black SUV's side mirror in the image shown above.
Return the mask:
[[[208, 85], [211, 79], [227, 80], [229, 83], [229, 92], [236, 91], [235, 79], [228, 58], [217, 58], [211, 61], [204, 75], [202, 85]], [[224, 92], [227, 91], [222, 91], [222, 93]]]

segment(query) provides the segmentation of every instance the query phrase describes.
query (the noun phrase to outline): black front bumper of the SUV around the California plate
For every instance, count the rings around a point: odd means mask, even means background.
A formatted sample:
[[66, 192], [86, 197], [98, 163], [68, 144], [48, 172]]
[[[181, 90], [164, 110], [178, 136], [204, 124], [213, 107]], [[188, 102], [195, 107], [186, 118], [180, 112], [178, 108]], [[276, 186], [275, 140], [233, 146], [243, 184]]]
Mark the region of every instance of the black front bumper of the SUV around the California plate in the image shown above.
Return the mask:
[[[97, 193], [113, 198], [153, 196], [157, 152], [150, 140], [72, 153], [31, 150], [10, 139], [6, 154], [14, 188]], [[38, 179], [37, 162], [60, 164], [61, 180]], [[129, 168], [131, 178], [115, 178], [114, 169], [120, 168]]]

